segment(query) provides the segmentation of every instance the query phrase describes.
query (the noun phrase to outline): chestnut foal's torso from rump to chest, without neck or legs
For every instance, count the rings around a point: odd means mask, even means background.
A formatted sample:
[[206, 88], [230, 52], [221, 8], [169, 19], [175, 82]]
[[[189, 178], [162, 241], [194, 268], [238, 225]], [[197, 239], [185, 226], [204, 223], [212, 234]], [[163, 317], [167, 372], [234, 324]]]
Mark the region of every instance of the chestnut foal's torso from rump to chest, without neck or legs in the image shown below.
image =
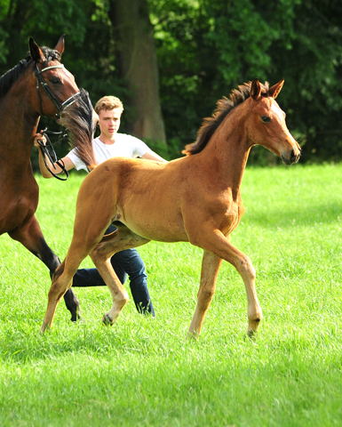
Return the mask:
[[239, 221], [237, 204], [203, 163], [200, 154], [169, 163], [109, 159], [84, 180], [76, 221], [101, 213], [107, 222], [122, 222], [139, 236], [163, 242], [188, 241], [190, 230], [209, 217], [227, 232]]

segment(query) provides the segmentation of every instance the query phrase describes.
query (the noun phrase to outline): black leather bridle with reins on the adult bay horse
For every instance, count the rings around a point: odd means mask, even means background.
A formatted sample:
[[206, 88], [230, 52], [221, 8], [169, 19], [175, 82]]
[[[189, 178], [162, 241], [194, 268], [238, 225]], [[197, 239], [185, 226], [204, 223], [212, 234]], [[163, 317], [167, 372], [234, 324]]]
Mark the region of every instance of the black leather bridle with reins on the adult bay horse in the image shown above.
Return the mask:
[[[36, 65], [36, 73], [35, 73], [35, 76], [36, 76], [36, 92], [38, 93], [39, 107], [40, 107], [40, 113], [41, 113], [40, 115], [44, 116], [43, 105], [42, 105], [42, 97], [41, 97], [40, 90], [39, 90], [39, 84], [42, 85], [42, 87], [44, 89], [44, 92], [47, 94], [47, 96], [50, 98], [50, 100], [53, 102], [53, 104], [55, 105], [56, 109], [58, 110], [58, 113], [56, 114], [56, 117], [60, 118], [61, 113], [65, 109], [68, 109], [68, 107], [70, 105], [72, 105], [76, 101], [77, 96], [79, 96], [80, 93], [79, 92], [74, 93], [73, 95], [70, 96], [70, 98], [68, 98], [67, 101], [60, 102], [60, 100], [58, 100], [55, 97], [55, 95], [52, 93], [52, 90], [50, 89], [50, 86], [44, 81], [44, 78], [42, 76], [42, 74], [44, 73], [44, 71], [47, 71], [48, 69], [53, 69], [53, 68], [64, 68], [64, 65], [63, 64], [52, 65], [51, 67], [46, 67], [46, 68], [43, 68], [43, 69], [39, 69], [38, 66]], [[68, 176], [69, 176], [68, 175], [68, 171], [67, 171], [67, 169], [66, 169], [66, 167], [64, 165], [64, 162], [62, 160], [57, 160], [56, 153], [55, 153], [55, 151], [54, 151], [54, 149], [52, 147], [52, 143], [51, 143], [49, 137], [46, 134], [47, 132], [49, 132], [49, 131], [47, 131], [45, 129], [45, 131], [43, 133], [44, 136], [45, 136], [45, 138], [46, 138], [46, 141], [47, 141], [47, 146], [44, 145], [43, 141], [40, 141], [40, 140], [38, 141], [38, 143], [40, 145], [40, 149], [42, 150], [42, 154], [43, 154], [45, 166], [46, 166], [47, 170], [50, 173], [52, 173], [52, 176], [54, 176], [55, 178], [57, 178], [60, 181], [67, 181], [68, 180]], [[50, 133], [52, 133], [52, 132], [50, 132]], [[52, 150], [52, 154], [49, 153], [48, 147]], [[46, 157], [49, 158], [49, 160], [52, 163], [54, 169], [56, 169], [56, 167], [54, 166], [54, 163], [57, 163], [57, 165], [60, 166], [60, 169], [62, 170], [62, 172], [66, 174], [66, 178], [61, 178], [56, 173], [52, 172], [52, 170], [47, 165]]]

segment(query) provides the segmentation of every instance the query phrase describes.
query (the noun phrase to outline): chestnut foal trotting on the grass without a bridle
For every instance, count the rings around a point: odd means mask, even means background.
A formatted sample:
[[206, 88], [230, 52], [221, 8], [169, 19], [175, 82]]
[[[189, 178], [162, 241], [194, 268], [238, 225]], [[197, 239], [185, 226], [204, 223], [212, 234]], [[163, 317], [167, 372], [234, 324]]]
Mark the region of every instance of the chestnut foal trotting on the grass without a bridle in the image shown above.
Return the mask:
[[[274, 99], [283, 80], [269, 88], [258, 79], [239, 86], [230, 99], [218, 102], [203, 122], [187, 157], [170, 163], [116, 157], [97, 166], [84, 180], [76, 204], [74, 236], [67, 257], [55, 271], [41, 332], [52, 326], [58, 302], [91, 254], [113, 297], [103, 321], [112, 325], [128, 301], [110, 264], [117, 251], [150, 240], [188, 241], [203, 249], [201, 282], [189, 335], [200, 333], [215, 292], [222, 260], [240, 273], [247, 293], [248, 334], [262, 318], [251, 260], [229, 242], [243, 215], [240, 187], [250, 149], [259, 144], [286, 165], [298, 162], [300, 148], [285, 114]], [[110, 223], [117, 230], [103, 236]]]

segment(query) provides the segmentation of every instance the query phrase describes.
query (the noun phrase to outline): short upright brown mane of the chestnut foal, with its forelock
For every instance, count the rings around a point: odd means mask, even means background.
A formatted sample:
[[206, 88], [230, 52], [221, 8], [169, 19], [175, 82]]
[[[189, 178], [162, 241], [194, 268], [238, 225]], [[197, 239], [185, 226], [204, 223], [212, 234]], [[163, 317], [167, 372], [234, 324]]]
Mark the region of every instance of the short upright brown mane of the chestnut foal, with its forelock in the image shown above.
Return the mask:
[[[261, 95], [268, 96], [269, 85], [266, 82], [265, 85], [261, 85]], [[251, 96], [251, 82], [239, 85], [238, 89], [235, 89], [227, 98], [224, 96], [218, 101], [217, 107], [211, 117], [203, 119], [203, 124], [197, 133], [197, 139], [192, 144], [187, 144], [186, 148], [183, 149], [182, 153], [187, 156], [200, 153], [211, 140], [211, 136], [216, 132], [219, 125], [227, 117], [227, 115], [237, 105], [243, 103]]]

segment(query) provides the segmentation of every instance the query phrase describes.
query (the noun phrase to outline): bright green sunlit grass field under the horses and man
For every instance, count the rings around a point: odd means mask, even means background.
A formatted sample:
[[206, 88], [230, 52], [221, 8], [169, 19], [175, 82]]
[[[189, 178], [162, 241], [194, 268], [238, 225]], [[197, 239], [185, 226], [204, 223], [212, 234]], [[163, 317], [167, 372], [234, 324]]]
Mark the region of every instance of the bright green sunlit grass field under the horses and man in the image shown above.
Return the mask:
[[[82, 179], [38, 178], [37, 217], [60, 258]], [[264, 320], [254, 342], [243, 281], [227, 263], [199, 341], [187, 342], [202, 252], [155, 242], [139, 253], [156, 318], [130, 301], [104, 327], [107, 288], [76, 289], [83, 322], [69, 322], [62, 302], [52, 331], [40, 336], [48, 271], [3, 236], [0, 425], [342, 425], [341, 189], [342, 165], [246, 170], [246, 212], [232, 242], [257, 270]]]

